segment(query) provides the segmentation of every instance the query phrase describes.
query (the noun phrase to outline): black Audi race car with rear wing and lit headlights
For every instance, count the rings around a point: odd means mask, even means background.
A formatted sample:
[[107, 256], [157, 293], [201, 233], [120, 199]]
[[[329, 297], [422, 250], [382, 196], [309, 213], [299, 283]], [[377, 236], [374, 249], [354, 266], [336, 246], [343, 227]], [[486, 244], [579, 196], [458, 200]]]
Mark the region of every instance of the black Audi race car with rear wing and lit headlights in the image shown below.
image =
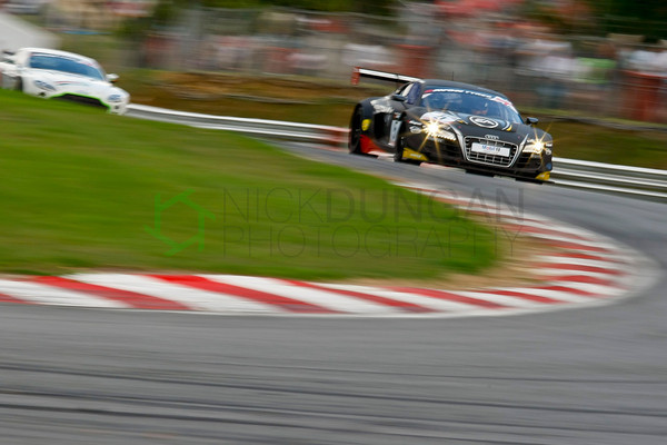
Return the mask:
[[356, 68], [352, 82], [360, 77], [399, 87], [357, 103], [350, 120], [351, 154], [385, 151], [396, 161], [549, 179], [551, 136], [535, 127], [536, 118], [524, 120], [506, 96], [469, 83]]

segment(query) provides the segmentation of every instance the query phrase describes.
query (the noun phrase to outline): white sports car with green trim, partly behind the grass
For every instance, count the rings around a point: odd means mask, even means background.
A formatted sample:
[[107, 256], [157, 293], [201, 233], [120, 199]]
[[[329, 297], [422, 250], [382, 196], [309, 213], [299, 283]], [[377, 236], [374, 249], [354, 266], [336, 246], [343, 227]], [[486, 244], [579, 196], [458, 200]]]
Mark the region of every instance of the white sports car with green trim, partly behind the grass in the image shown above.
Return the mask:
[[102, 107], [117, 115], [125, 113], [130, 102], [130, 95], [113, 86], [118, 76], [73, 52], [22, 48], [4, 55], [0, 76], [2, 88]]

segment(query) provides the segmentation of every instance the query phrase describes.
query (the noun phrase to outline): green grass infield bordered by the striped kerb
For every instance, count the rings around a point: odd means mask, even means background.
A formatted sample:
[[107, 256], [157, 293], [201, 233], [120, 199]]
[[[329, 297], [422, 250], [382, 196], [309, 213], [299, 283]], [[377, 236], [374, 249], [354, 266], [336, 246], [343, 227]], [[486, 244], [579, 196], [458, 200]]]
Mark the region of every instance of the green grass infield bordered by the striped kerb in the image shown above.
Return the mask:
[[[1, 273], [432, 279], [479, 273], [504, 251], [442, 204], [235, 134], [14, 91], [0, 103]], [[183, 194], [159, 214], [171, 241], [158, 239], [156, 202]], [[201, 246], [198, 209], [212, 216]]]

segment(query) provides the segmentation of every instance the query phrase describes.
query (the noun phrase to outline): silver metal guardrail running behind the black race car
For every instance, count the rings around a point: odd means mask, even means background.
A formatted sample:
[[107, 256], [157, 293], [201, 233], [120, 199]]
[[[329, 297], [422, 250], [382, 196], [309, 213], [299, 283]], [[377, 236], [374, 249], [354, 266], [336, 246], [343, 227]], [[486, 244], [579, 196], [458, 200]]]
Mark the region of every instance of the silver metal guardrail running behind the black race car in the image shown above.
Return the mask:
[[[128, 107], [128, 116], [339, 148], [346, 146], [348, 137], [348, 129], [340, 127], [202, 115], [136, 103]], [[667, 199], [667, 170], [554, 158], [551, 182], [563, 187]]]

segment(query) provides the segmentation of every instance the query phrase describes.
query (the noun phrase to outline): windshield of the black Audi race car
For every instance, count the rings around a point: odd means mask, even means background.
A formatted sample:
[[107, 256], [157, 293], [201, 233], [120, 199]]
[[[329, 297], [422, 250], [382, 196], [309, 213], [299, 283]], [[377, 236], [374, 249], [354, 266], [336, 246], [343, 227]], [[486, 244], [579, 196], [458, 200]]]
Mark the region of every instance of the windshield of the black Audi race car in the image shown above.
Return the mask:
[[426, 88], [421, 103], [429, 110], [444, 110], [485, 116], [508, 122], [521, 122], [511, 102], [500, 96], [452, 88]]

